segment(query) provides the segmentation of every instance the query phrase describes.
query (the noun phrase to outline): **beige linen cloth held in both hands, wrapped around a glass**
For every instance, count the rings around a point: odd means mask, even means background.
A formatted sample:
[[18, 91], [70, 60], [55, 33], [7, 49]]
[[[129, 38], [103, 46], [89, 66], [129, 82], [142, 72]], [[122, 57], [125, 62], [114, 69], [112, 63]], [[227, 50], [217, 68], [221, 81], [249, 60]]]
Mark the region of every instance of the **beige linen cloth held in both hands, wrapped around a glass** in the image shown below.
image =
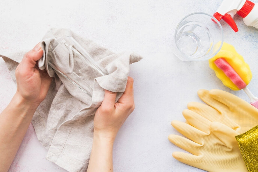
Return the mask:
[[[69, 54], [67, 56], [67, 52], [56, 51], [55, 38], [64, 36], [72, 36], [108, 71], [108, 75], [100, 76], [92, 68], [85, 67], [87, 82], [93, 86], [92, 97], [46, 65], [48, 58], [61, 60], [60, 64], [64, 66], [70, 65]], [[119, 92], [117, 101], [125, 90], [129, 64], [138, 62], [142, 57], [134, 53], [113, 53], [63, 28], [48, 31], [42, 39], [42, 49], [44, 55], [38, 65], [40, 69], [46, 67], [49, 75], [54, 78], [45, 100], [33, 116], [32, 124], [38, 140], [48, 150], [47, 160], [70, 172], [84, 172], [88, 167], [92, 147], [94, 114], [103, 101], [104, 89]], [[56, 53], [51, 53], [53, 50]], [[1, 55], [14, 81], [15, 69], [25, 53]]]

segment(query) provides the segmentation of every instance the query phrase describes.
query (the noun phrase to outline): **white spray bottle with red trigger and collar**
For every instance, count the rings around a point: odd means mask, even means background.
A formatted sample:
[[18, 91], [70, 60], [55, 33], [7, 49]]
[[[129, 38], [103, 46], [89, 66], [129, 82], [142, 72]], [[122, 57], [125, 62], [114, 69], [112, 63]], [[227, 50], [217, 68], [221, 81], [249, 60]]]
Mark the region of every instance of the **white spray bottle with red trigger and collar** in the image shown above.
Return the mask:
[[258, 29], [258, 4], [248, 0], [223, 0], [213, 17], [218, 21], [223, 19], [237, 32], [238, 28], [233, 20], [236, 13], [243, 17], [245, 25]]

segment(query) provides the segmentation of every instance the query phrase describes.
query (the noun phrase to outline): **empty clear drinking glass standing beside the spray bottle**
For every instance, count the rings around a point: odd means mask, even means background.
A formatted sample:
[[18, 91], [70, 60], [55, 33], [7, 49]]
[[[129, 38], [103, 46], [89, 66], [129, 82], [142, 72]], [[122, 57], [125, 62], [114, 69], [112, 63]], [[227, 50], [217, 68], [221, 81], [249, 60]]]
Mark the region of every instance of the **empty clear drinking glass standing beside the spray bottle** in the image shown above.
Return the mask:
[[175, 55], [184, 61], [207, 60], [223, 44], [223, 29], [213, 16], [196, 12], [184, 17], [175, 30]]

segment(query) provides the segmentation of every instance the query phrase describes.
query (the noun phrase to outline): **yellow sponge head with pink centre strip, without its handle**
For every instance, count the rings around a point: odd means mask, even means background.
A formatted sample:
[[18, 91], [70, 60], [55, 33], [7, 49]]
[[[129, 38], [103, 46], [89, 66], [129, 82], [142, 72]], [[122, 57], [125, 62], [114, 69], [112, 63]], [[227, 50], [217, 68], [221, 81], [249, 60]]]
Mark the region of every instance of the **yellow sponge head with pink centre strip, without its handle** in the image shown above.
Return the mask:
[[252, 72], [234, 46], [223, 43], [221, 50], [211, 59], [209, 66], [222, 83], [232, 90], [245, 88], [252, 79]]

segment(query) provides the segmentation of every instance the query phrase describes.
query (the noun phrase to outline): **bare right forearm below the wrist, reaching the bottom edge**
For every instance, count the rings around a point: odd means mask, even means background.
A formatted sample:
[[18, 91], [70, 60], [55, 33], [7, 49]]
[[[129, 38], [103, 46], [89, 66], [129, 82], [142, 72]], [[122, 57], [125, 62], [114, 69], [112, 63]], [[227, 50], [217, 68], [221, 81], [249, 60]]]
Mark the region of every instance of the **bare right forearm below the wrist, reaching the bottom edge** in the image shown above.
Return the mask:
[[113, 171], [113, 138], [94, 133], [92, 151], [87, 172]]

